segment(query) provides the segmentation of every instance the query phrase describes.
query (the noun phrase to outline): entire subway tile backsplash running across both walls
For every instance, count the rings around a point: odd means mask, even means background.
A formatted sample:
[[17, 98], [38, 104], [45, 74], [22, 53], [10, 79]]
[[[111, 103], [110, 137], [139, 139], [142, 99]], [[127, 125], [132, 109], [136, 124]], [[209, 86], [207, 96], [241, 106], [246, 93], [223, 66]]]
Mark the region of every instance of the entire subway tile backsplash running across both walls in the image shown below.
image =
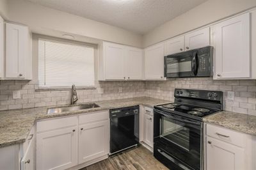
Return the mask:
[[[122, 88], [122, 91], [119, 91]], [[224, 92], [224, 109], [256, 115], [256, 81], [213, 81], [207, 78], [168, 79], [167, 81], [101, 81], [96, 89], [77, 89], [78, 103], [131, 97], [154, 97], [173, 101], [175, 88], [209, 89]], [[35, 91], [38, 85], [29, 81], [0, 81], [0, 110], [70, 104], [71, 92]], [[21, 98], [13, 99], [19, 90]], [[227, 91], [234, 91], [234, 101], [227, 100]]]

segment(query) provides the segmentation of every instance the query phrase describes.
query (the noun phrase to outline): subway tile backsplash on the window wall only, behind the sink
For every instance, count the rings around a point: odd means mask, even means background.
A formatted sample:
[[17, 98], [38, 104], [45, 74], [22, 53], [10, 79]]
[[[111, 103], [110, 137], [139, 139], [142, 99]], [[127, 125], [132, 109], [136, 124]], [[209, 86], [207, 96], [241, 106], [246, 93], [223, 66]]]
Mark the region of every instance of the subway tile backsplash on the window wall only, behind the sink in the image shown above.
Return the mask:
[[[122, 88], [122, 92], [119, 92], [119, 88]], [[0, 81], [0, 110], [65, 105], [71, 102], [71, 87], [61, 91], [36, 91], [36, 89], [38, 89], [38, 85], [29, 81]], [[15, 90], [20, 91], [21, 98], [13, 99], [13, 91]], [[96, 89], [77, 89], [77, 95], [79, 98], [77, 104], [143, 97], [145, 95], [145, 83], [143, 81], [99, 82], [96, 84]]]

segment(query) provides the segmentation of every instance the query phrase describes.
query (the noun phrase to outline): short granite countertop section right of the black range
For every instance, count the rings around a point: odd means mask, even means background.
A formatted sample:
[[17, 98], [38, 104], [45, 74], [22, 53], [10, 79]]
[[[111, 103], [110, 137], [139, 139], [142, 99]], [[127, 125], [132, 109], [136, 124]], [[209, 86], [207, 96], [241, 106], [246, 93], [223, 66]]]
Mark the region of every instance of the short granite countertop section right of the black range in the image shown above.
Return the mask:
[[250, 114], [221, 111], [205, 117], [203, 121], [246, 134], [256, 135], [256, 116]]

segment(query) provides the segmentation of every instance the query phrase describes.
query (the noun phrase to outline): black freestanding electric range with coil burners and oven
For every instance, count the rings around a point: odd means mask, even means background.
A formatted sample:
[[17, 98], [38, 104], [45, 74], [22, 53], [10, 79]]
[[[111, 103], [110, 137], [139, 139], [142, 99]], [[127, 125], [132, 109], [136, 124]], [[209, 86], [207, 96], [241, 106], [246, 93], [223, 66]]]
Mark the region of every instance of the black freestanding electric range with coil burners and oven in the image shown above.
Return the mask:
[[170, 169], [203, 167], [203, 123], [223, 109], [223, 92], [175, 89], [175, 101], [154, 107], [154, 157]]

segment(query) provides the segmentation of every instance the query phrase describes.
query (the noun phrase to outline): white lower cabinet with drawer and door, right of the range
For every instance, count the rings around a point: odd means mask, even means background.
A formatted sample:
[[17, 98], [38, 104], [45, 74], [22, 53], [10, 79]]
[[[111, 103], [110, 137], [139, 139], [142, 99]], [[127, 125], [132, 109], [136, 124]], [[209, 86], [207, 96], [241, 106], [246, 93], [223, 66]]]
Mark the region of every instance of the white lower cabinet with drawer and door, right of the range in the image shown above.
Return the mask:
[[210, 123], [205, 127], [206, 170], [255, 169], [255, 136]]

